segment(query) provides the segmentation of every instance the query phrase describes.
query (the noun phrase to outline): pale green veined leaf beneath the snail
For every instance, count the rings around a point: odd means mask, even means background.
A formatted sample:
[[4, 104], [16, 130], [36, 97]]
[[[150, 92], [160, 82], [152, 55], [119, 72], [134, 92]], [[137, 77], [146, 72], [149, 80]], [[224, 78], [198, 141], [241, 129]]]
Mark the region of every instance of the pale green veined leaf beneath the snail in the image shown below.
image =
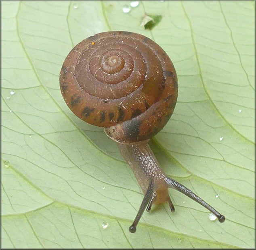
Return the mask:
[[[255, 3], [2, 1], [2, 248], [255, 248]], [[141, 22], [161, 16], [151, 30]], [[172, 58], [179, 95], [150, 142], [166, 174], [226, 217], [170, 190], [143, 199], [117, 146], [67, 108], [68, 52], [102, 31], [141, 33]]]

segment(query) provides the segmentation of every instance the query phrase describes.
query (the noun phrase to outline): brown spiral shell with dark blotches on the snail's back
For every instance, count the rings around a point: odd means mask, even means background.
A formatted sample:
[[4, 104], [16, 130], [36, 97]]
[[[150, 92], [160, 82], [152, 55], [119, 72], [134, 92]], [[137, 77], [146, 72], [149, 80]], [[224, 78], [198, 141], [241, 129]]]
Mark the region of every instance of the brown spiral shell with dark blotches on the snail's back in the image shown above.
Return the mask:
[[74, 114], [127, 144], [158, 133], [178, 96], [176, 71], [166, 52], [126, 31], [98, 33], [76, 45], [61, 68], [60, 87]]

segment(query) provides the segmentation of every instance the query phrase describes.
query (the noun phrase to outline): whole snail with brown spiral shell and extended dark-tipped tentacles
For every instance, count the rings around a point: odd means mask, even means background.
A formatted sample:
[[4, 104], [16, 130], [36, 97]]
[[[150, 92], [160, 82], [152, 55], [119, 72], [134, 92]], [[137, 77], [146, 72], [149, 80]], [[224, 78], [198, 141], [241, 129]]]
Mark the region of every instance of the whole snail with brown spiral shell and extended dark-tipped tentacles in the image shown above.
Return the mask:
[[148, 37], [127, 31], [92, 35], [67, 55], [60, 72], [60, 88], [71, 111], [83, 121], [104, 127], [117, 142], [145, 196], [129, 228], [131, 233], [152, 204], [174, 205], [174, 188], [210, 210], [212, 206], [187, 187], [167, 177], [148, 142], [169, 121], [178, 97], [178, 80], [166, 52]]

